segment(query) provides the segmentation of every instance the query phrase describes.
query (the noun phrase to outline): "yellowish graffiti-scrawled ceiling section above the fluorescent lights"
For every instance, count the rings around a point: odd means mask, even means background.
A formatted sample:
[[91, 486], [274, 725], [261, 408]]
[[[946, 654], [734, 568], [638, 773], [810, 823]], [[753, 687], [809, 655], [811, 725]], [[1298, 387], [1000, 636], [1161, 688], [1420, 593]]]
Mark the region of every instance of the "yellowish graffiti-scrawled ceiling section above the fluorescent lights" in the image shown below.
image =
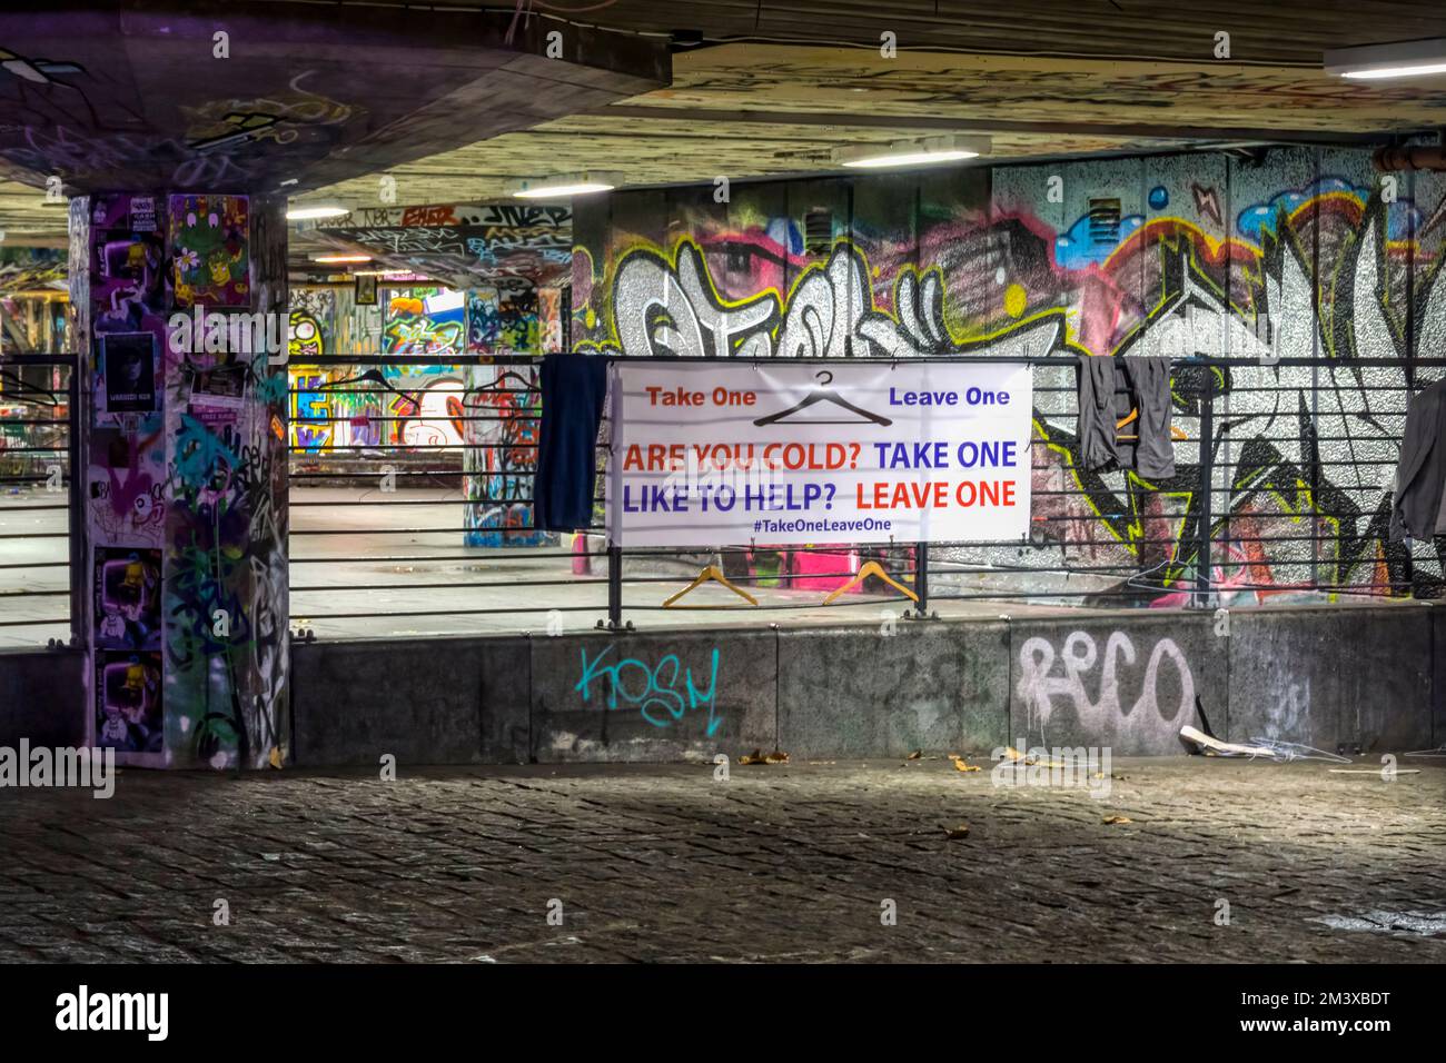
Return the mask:
[[[674, 56], [668, 88], [389, 171], [399, 201], [476, 201], [577, 168], [655, 185], [837, 171], [843, 145], [983, 133], [992, 158], [1222, 143], [1384, 142], [1446, 124], [1446, 78], [1319, 69], [727, 43]], [[375, 205], [376, 179], [321, 195]]]

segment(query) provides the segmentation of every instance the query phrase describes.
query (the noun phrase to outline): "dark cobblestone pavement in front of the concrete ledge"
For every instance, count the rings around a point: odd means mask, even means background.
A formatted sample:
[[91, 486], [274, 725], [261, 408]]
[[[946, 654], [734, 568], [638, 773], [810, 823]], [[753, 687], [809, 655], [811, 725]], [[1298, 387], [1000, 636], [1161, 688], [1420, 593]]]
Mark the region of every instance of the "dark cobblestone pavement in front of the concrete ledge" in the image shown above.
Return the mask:
[[0, 959], [1442, 962], [1440, 921], [1317, 921], [1446, 913], [1446, 765], [1401, 767], [1116, 759], [1105, 800], [943, 759], [126, 771], [0, 791]]

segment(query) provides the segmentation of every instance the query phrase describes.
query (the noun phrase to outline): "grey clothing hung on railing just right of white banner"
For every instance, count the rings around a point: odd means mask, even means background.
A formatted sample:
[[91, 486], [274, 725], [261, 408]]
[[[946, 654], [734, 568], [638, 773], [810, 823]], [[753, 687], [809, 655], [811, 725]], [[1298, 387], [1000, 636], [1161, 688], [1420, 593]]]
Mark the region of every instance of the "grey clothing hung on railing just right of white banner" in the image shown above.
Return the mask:
[[[1134, 421], [1115, 427], [1137, 409]], [[1134, 469], [1151, 480], [1168, 480], [1174, 476], [1173, 412], [1168, 357], [1080, 359], [1079, 440], [1084, 469]]]

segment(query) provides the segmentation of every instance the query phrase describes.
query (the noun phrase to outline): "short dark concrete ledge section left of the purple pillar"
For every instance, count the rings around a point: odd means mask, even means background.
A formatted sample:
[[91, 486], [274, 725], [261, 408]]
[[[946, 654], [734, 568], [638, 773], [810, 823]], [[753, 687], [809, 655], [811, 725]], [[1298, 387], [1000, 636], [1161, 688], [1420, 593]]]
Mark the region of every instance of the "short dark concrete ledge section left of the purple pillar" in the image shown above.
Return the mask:
[[0, 649], [0, 745], [84, 745], [88, 690], [84, 651]]

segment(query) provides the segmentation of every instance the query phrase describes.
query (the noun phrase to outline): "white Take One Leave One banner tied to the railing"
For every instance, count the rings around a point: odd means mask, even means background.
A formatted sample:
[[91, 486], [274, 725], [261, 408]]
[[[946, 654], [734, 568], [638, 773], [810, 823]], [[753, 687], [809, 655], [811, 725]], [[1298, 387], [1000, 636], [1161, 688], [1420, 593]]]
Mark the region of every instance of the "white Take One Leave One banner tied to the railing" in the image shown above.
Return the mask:
[[1028, 366], [620, 360], [612, 375], [619, 545], [1028, 532]]

